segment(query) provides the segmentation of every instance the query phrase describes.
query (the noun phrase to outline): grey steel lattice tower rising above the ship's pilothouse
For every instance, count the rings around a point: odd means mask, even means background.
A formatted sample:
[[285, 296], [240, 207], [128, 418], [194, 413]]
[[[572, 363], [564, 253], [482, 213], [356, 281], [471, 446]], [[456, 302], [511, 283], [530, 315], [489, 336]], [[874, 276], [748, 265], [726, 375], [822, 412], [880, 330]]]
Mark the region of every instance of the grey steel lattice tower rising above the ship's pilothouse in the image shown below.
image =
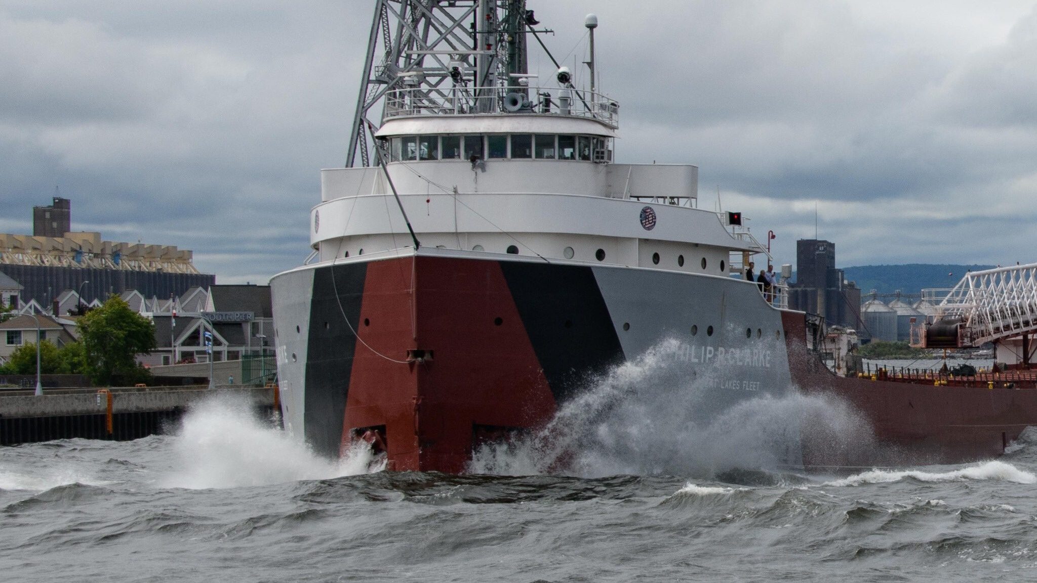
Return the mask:
[[[464, 98], [492, 112], [499, 76], [527, 72], [526, 0], [375, 0], [345, 166], [376, 166], [387, 107]], [[509, 83], [504, 80], [504, 83]], [[405, 91], [403, 91], [405, 89]]]

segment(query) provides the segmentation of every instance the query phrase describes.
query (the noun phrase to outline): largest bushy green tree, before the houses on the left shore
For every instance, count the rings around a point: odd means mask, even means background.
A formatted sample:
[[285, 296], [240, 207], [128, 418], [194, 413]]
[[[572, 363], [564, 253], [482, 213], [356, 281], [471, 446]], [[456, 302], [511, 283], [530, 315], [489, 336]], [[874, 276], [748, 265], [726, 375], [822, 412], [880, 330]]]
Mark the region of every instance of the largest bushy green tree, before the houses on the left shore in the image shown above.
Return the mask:
[[81, 317], [77, 326], [85, 373], [94, 384], [132, 384], [150, 377], [136, 357], [156, 347], [155, 324], [131, 310], [122, 298], [112, 295]]

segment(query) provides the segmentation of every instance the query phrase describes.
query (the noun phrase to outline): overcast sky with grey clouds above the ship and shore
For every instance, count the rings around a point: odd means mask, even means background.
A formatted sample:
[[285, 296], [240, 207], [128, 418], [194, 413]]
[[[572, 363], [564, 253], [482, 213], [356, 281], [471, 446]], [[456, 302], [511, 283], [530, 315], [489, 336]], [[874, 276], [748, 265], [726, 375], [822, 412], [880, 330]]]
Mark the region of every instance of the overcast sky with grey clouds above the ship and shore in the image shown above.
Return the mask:
[[[194, 250], [219, 283], [300, 264], [372, 6], [0, 0], [0, 232], [57, 188], [74, 230]], [[700, 207], [719, 190], [778, 263], [815, 207], [840, 266], [1037, 262], [1034, 0], [529, 7], [569, 63], [597, 13], [617, 161], [697, 165]]]

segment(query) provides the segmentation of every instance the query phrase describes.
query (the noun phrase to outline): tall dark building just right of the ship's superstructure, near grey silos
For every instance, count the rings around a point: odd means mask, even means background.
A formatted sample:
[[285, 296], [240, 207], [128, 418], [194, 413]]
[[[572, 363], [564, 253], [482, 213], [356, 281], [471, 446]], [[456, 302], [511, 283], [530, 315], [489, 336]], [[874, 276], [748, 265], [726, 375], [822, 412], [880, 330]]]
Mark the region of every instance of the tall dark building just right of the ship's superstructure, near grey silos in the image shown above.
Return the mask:
[[836, 244], [800, 239], [795, 244], [795, 283], [789, 308], [824, 316], [830, 325], [861, 329], [861, 289], [836, 268]]

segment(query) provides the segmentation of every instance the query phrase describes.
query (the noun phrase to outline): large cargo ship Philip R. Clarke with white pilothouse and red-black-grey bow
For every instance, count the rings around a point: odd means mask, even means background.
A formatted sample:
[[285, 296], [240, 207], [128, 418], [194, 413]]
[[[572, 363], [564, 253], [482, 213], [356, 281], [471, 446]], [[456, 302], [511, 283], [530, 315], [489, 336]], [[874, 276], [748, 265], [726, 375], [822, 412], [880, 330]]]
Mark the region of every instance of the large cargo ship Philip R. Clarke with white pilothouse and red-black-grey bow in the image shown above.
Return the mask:
[[[701, 379], [699, 419], [824, 391], [933, 461], [998, 454], [1037, 422], [1037, 391], [1019, 386], [825, 368], [780, 278], [744, 276], [768, 251], [740, 213], [699, 206], [695, 166], [614, 159], [593, 14], [573, 71], [524, 0], [373, 8], [346, 166], [321, 171], [312, 254], [271, 281], [284, 426], [314, 451], [367, 442], [389, 469], [461, 472], [661, 343]], [[534, 45], [546, 79], [529, 71]], [[782, 462], [854, 455], [805, 441]]]

